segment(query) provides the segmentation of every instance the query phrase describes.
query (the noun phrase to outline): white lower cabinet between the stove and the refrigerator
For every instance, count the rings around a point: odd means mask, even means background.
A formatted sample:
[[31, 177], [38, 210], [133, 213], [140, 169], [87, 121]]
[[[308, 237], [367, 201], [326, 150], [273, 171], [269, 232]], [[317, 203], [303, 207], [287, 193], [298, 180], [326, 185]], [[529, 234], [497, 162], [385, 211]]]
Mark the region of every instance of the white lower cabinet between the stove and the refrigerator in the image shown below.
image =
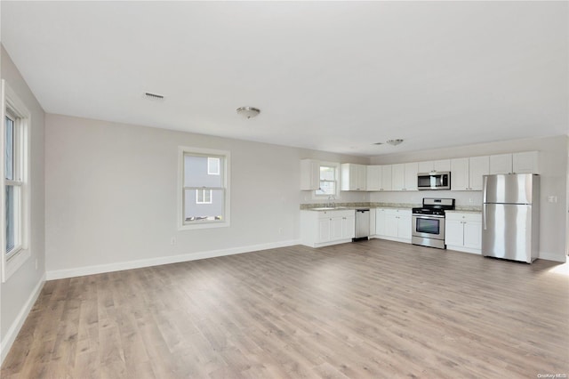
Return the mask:
[[482, 246], [482, 215], [477, 213], [446, 212], [446, 248], [480, 254]]

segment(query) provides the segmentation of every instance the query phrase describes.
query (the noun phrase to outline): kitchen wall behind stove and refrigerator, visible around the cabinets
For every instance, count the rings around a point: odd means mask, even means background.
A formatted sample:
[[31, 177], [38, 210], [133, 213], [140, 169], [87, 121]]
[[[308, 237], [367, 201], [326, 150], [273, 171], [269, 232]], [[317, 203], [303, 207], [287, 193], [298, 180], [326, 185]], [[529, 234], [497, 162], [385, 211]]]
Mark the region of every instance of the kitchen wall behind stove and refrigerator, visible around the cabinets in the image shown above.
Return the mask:
[[[518, 151], [539, 151], [541, 173], [540, 257], [542, 259], [565, 262], [568, 140], [569, 137], [561, 135], [500, 141], [451, 149], [424, 150], [408, 154], [373, 157], [370, 159], [370, 163], [373, 165], [389, 165], [453, 157], [476, 157]], [[379, 202], [397, 200], [393, 202], [420, 204], [423, 197], [431, 195], [441, 198], [456, 198], [457, 206], [482, 206], [481, 191], [374, 192], [370, 195], [370, 200]], [[556, 196], [557, 203], [549, 203], [547, 200], [549, 196]]]

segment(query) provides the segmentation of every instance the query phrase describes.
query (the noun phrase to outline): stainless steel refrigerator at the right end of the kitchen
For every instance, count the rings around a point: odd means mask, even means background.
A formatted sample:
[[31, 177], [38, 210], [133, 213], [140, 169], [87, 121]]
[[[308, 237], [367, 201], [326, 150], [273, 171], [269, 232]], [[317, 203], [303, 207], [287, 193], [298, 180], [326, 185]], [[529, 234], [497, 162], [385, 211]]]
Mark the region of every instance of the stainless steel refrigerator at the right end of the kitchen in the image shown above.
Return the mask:
[[533, 262], [540, 249], [540, 175], [484, 175], [482, 254]]

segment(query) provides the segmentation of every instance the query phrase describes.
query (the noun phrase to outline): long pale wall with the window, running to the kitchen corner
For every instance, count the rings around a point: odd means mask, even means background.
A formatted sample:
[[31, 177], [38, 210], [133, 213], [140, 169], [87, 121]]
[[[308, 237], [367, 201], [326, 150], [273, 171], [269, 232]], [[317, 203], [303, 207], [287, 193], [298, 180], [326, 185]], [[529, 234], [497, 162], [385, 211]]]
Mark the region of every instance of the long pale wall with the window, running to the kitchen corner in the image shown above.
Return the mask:
[[[48, 278], [297, 243], [300, 159], [367, 160], [78, 117], [45, 124]], [[230, 227], [177, 230], [179, 146], [230, 151]]]

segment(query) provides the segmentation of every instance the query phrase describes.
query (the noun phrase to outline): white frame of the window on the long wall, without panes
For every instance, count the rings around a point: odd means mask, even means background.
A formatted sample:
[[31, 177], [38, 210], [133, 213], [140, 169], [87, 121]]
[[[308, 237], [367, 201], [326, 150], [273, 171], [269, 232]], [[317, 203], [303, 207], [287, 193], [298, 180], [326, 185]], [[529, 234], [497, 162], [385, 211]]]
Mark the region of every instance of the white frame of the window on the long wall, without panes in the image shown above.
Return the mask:
[[[204, 156], [204, 157], [220, 157], [224, 159], [223, 164], [223, 193], [224, 193], [224, 210], [223, 220], [219, 221], [204, 221], [204, 222], [186, 222], [184, 220], [184, 156], [186, 154]], [[202, 149], [188, 146], [178, 147], [178, 212], [177, 212], [177, 225], [178, 230], [196, 230], [196, 229], [209, 229], [209, 228], [224, 228], [230, 225], [231, 209], [231, 196], [229, 190], [230, 183], [230, 167], [231, 167], [231, 154], [228, 150], [217, 149]], [[221, 173], [220, 173], [221, 174]]]

